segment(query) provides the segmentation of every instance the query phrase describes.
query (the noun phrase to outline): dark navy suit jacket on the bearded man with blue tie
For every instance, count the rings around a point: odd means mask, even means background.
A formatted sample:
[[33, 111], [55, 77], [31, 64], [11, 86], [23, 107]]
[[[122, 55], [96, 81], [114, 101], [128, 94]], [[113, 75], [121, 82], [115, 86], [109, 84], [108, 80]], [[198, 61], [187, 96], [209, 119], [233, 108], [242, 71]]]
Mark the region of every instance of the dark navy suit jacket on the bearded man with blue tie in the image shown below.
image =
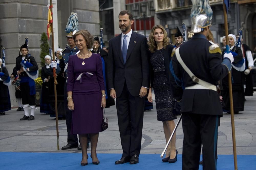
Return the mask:
[[122, 34], [109, 41], [108, 84], [116, 96], [122, 93], [124, 83], [132, 96], [139, 96], [141, 87], [149, 88], [149, 53], [147, 38], [132, 32], [124, 64], [121, 48]]

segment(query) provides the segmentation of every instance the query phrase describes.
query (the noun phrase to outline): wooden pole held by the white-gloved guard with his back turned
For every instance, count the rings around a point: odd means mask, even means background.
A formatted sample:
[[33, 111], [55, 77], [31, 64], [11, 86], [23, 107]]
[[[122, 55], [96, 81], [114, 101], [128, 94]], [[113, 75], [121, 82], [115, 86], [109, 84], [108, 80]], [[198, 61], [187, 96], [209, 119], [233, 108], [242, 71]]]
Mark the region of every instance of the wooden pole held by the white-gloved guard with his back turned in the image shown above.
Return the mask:
[[[228, 7], [229, 7], [229, 0], [223, 0], [223, 10], [224, 10], [223, 13], [224, 13], [226, 42], [228, 42], [228, 14], [227, 14]], [[226, 53], [229, 53], [228, 43], [226, 43]], [[233, 108], [231, 72], [229, 72], [229, 74], [228, 74], [228, 87], [229, 87], [229, 100], [230, 100], [230, 115], [231, 115], [232, 140], [233, 140], [234, 167], [235, 167], [235, 170], [237, 170], [237, 149], [236, 149], [236, 135], [235, 135], [235, 124], [234, 124], [234, 108]]]

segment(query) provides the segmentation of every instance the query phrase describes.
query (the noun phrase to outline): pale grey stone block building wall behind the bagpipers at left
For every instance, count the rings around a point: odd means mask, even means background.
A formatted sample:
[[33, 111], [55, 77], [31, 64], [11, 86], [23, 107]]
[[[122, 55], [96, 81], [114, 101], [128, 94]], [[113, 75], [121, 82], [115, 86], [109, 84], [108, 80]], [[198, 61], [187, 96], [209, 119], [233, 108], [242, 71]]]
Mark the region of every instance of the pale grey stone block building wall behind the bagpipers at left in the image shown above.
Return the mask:
[[[19, 48], [28, 37], [29, 52], [40, 63], [41, 34], [47, 29], [49, 0], [4, 0], [0, 3], [0, 38], [5, 47], [6, 68], [12, 74]], [[95, 0], [53, 0], [55, 50], [64, 48], [66, 23], [71, 12], [78, 15], [79, 29], [87, 29], [93, 35], [100, 32], [99, 1]], [[51, 37], [50, 42], [51, 46]], [[1, 49], [2, 53], [2, 49]], [[1, 54], [2, 56], [2, 54]], [[41, 68], [39, 64], [39, 68]], [[9, 86], [12, 106], [17, 106], [15, 88]]]

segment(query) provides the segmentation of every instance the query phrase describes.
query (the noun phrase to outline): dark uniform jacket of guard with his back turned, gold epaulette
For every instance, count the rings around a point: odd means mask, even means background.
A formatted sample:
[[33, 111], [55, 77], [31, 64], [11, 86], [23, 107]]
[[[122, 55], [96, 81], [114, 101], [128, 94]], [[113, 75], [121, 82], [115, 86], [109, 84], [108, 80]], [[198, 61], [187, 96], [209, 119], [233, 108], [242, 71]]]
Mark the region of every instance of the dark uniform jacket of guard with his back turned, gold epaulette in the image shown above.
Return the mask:
[[[189, 41], [180, 46], [179, 53], [184, 63], [196, 77], [217, 86], [218, 81], [228, 74], [231, 63], [227, 58], [222, 63], [220, 49], [219, 53], [212, 53], [212, 51], [210, 53], [209, 47], [211, 45], [204, 35], [195, 34]], [[183, 88], [196, 85], [179, 64], [175, 54], [172, 58], [172, 66], [175, 75], [183, 81]], [[208, 89], [183, 90], [181, 86], [176, 84], [174, 78], [171, 80], [174, 98], [182, 99], [182, 112], [222, 116], [222, 106], [217, 91]]]

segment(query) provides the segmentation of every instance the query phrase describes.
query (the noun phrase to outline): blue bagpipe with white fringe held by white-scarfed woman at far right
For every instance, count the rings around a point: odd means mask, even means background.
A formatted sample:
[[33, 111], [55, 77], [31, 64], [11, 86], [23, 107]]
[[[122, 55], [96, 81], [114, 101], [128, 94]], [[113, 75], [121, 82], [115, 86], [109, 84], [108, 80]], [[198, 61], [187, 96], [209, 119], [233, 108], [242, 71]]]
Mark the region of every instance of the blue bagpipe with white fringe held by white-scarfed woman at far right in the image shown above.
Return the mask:
[[242, 54], [243, 54], [243, 59], [240, 60], [238, 63], [231, 63], [232, 67], [234, 69], [236, 69], [237, 71], [244, 71], [245, 70], [245, 55], [244, 55], [244, 48], [243, 48], [243, 45], [242, 45], [242, 42], [241, 42], [241, 39], [242, 39], [242, 36], [243, 36], [243, 30], [242, 29], [239, 29], [239, 33], [238, 33], [238, 40], [234, 46], [234, 52], [231, 51], [231, 48], [230, 48], [230, 52], [231, 54], [236, 57], [237, 56], [237, 53], [235, 52], [236, 51], [236, 48], [239, 47], [241, 50], [242, 50]]

